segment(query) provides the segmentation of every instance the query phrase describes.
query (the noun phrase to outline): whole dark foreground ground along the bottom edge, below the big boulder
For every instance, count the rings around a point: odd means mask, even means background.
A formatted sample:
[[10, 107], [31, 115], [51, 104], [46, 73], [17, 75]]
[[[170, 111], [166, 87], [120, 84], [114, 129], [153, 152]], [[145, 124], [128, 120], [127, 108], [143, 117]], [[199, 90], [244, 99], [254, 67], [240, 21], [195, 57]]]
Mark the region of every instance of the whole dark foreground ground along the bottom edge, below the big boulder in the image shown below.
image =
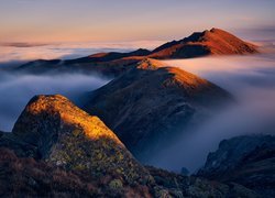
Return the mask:
[[125, 186], [113, 175], [96, 178], [81, 170], [67, 170], [48, 162], [18, 157], [0, 148], [1, 197], [257, 197], [241, 185], [223, 185], [147, 167], [154, 185]]

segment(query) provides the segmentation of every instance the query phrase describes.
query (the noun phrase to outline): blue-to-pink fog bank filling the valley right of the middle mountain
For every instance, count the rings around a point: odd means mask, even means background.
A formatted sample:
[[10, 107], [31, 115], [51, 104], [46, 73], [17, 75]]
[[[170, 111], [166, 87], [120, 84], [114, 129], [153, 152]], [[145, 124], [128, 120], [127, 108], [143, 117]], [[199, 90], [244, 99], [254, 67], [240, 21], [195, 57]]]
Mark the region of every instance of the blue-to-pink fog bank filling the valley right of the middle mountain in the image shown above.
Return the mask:
[[196, 172], [219, 142], [242, 134], [275, 134], [275, 53], [253, 56], [168, 61], [229, 90], [238, 103], [197, 130], [185, 132], [160, 151], [150, 164], [179, 172]]

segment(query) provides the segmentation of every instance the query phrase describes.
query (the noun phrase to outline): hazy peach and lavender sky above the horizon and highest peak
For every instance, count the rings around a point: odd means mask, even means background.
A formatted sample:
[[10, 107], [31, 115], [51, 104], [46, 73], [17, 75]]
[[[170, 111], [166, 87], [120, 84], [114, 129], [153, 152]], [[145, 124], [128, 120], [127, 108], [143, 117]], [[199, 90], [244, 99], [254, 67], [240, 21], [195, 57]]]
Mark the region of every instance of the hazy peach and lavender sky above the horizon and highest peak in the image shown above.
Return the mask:
[[0, 0], [0, 42], [180, 38], [212, 26], [275, 32], [275, 0]]

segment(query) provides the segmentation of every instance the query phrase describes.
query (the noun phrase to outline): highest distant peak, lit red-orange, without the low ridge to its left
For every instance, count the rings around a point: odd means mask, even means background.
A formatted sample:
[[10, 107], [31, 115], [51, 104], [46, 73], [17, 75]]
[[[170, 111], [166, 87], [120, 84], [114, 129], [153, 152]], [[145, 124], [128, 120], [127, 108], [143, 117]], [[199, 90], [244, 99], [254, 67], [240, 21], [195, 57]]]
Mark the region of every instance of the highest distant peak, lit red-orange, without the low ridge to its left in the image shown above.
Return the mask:
[[196, 32], [179, 41], [155, 48], [152, 58], [191, 58], [207, 55], [241, 55], [257, 53], [255, 45], [220, 29]]

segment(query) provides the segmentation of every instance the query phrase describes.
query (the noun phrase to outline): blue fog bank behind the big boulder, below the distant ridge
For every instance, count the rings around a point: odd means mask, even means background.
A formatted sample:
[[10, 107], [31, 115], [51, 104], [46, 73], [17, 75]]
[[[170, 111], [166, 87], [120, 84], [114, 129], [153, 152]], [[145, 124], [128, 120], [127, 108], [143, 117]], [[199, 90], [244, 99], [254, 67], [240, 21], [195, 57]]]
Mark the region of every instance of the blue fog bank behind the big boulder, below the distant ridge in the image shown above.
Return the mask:
[[28, 101], [35, 95], [61, 94], [73, 101], [95, 90], [108, 79], [86, 75], [34, 76], [0, 74], [0, 130], [11, 131]]

